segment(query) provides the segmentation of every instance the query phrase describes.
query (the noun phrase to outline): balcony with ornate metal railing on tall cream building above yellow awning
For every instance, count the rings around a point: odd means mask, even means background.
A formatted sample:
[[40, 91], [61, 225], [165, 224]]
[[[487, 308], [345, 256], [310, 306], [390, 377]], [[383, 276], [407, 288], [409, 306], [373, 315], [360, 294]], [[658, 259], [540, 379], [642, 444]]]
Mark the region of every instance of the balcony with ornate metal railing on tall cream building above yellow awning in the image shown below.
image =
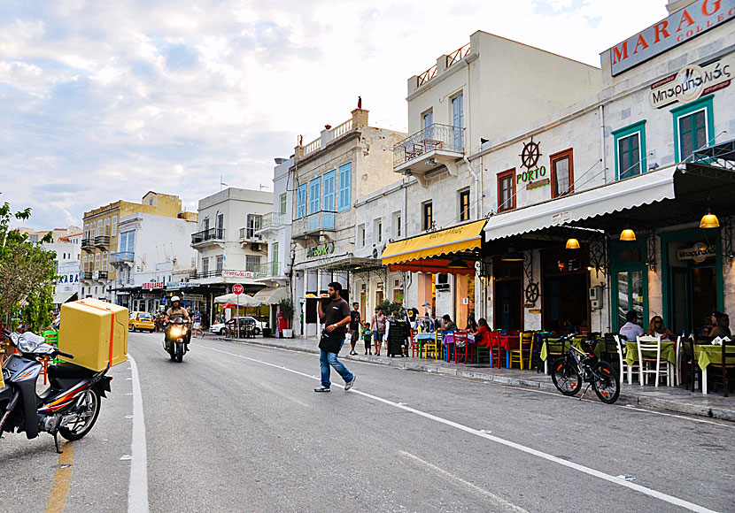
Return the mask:
[[393, 171], [415, 176], [425, 185], [425, 175], [445, 166], [457, 176], [458, 162], [464, 157], [462, 126], [430, 125], [406, 137], [393, 147]]

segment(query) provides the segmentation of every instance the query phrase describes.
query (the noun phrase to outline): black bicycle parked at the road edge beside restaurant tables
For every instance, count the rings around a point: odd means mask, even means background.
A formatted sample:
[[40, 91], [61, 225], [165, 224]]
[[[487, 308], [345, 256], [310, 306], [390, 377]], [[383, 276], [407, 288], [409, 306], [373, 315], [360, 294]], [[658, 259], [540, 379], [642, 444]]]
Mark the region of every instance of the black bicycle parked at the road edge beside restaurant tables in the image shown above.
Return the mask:
[[553, 384], [561, 394], [576, 395], [583, 383], [589, 383], [584, 393], [592, 387], [600, 401], [607, 404], [617, 401], [620, 396], [620, 379], [612, 365], [594, 355], [597, 341], [583, 341], [584, 351], [575, 348], [569, 339], [562, 338], [562, 343], [563, 341], [569, 341], [569, 350], [552, 365]]

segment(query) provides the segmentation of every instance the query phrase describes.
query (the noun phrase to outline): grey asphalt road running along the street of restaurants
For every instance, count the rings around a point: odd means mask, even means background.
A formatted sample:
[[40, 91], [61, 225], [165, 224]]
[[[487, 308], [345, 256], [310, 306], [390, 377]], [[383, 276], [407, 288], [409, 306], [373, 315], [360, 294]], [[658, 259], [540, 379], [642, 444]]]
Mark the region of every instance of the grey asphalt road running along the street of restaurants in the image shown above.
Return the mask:
[[315, 355], [160, 339], [65, 455], [0, 440], [0, 511], [735, 511], [731, 423], [357, 362], [315, 394]]

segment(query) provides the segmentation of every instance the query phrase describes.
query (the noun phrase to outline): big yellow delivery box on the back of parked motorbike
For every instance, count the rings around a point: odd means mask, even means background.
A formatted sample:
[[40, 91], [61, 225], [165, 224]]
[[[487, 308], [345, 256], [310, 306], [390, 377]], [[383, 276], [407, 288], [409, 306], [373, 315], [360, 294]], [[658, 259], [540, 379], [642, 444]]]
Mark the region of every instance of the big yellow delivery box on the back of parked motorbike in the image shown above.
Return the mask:
[[58, 348], [92, 371], [128, 360], [128, 309], [87, 298], [61, 305]]

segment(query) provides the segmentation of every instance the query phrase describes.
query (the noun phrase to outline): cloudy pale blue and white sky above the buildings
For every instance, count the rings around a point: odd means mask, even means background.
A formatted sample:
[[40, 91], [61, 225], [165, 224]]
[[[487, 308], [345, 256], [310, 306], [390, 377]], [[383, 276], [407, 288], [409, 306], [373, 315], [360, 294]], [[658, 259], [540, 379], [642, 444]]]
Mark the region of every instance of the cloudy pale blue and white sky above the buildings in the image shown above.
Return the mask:
[[149, 190], [272, 190], [275, 157], [350, 118], [406, 131], [406, 80], [484, 30], [589, 65], [666, 0], [5, 0], [0, 202], [27, 226]]

